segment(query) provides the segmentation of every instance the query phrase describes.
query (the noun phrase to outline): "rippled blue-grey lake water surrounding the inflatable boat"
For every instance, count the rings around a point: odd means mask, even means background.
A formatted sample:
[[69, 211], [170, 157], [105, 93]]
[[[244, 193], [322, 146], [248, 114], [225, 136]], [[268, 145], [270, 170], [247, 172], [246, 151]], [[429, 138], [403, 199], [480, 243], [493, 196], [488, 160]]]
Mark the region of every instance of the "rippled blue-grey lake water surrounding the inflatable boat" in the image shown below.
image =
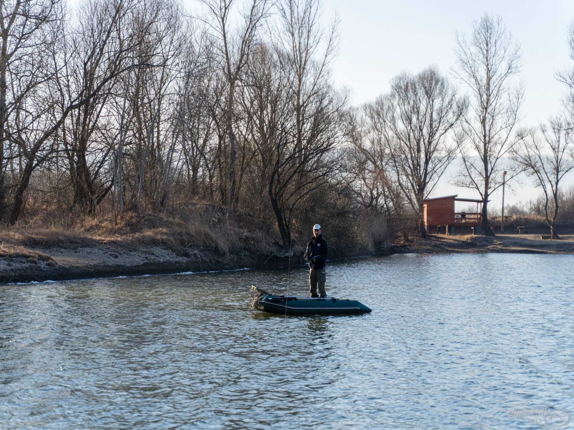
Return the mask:
[[2, 286], [0, 428], [574, 428], [573, 256], [348, 260], [371, 314], [251, 310], [306, 275]]

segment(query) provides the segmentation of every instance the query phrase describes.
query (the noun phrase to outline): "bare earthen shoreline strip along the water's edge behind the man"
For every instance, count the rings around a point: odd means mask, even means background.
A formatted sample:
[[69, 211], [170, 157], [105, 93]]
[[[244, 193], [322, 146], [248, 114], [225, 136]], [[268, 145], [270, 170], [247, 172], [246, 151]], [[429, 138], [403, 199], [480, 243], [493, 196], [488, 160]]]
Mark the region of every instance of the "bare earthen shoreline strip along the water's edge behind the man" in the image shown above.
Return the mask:
[[[540, 234], [498, 234], [495, 237], [474, 235], [429, 235], [393, 244], [385, 255], [404, 253], [545, 253], [574, 254], [574, 236], [560, 240], [541, 239]], [[0, 284], [15, 285], [32, 282], [70, 281], [112, 278], [119, 276], [177, 275], [184, 272], [236, 271], [286, 267], [288, 258], [268, 255], [220, 256], [211, 250], [195, 249], [187, 255], [164, 247], [122, 248], [118, 244], [92, 244], [90, 247], [38, 248], [47, 261], [25, 256], [0, 260]], [[369, 257], [364, 252], [340, 255], [342, 259]], [[285, 260], [285, 261], [283, 261]], [[339, 258], [337, 259], [339, 260]], [[49, 264], [51, 263], [51, 264]], [[282, 264], [285, 263], [285, 264]], [[301, 257], [291, 260], [292, 267], [301, 267]]]

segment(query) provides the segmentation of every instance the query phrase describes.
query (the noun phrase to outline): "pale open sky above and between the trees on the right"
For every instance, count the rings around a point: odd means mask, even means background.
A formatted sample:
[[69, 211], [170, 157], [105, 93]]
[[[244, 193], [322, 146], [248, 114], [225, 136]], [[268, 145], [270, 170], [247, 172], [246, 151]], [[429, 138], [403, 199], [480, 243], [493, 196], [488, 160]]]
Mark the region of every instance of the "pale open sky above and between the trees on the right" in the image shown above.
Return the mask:
[[[436, 65], [450, 76], [456, 32], [470, 34], [472, 22], [488, 13], [501, 16], [522, 48], [520, 78], [526, 94], [520, 125], [537, 126], [560, 111], [564, 85], [554, 73], [574, 67], [567, 44], [568, 26], [574, 20], [573, 0], [325, 0], [324, 10], [325, 24], [335, 10], [340, 19], [340, 53], [333, 62], [333, 80], [351, 89], [352, 104], [388, 92], [390, 80], [403, 71], [417, 73]], [[456, 165], [449, 168], [432, 197], [479, 198], [476, 191], [449, 183], [455, 171]], [[505, 207], [526, 203], [538, 194], [530, 178], [520, 180], [522, 186], [514, 185], [514, 191], [506, 187]], [[564, 185], [571, 184], [574, 174], [565, 178]], [[501, 208], [502, 190], [492, 194], [490, 205]]]

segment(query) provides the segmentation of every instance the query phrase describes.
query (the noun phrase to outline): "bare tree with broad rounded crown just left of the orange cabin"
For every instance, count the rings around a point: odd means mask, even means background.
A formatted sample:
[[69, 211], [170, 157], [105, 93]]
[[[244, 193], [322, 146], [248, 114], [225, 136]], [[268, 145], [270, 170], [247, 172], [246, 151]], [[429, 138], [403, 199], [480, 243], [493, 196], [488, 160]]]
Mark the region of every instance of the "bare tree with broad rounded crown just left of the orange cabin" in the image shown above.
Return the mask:
[[[426, 236], [424, 200], [455, 158], [456, 146], [448, 140], [466, 111], [466, 99], [436, 68], [416, 76], [403, 73], [391, 81], [391, 104], [380, 119], [388, 143], [396, 182], [418, 216], [418, 234]], [[377, 103], [386, 103], [379, 99]]]

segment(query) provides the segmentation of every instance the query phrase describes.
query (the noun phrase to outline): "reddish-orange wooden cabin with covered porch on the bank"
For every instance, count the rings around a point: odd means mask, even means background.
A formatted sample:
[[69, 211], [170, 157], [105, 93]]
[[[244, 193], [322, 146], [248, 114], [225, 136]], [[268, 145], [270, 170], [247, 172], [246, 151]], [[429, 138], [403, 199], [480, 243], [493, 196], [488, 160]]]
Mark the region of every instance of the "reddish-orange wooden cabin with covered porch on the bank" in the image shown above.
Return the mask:
[[[476, 212], [455, 212], [455, 202], [476, 203]], [[428, 233], [455, 233], [457, 227], [470, 227], [480, 232], [483, 200], [453, 196], [428, 198], [424, 201], [424, 221]]]

